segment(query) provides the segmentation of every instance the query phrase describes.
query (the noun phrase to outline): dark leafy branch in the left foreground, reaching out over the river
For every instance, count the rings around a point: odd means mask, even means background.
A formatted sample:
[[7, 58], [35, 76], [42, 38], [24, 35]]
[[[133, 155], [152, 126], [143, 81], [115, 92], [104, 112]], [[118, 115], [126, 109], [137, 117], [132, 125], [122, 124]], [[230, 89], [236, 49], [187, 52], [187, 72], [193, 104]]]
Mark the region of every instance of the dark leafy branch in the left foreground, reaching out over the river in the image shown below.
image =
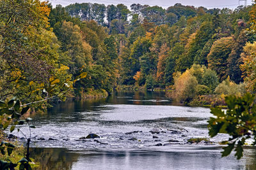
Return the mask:
[[[15, 167], [17, 167], [18, 164], [19, 169], [31, 169], [31, 166], [29, 164], [29, 162], [31, 162], [31, 160], [29, 159], [29, 145], [31, 142], [31, 128], [35, 128], [35, 126], [30, 124], [32, 118], [28, 117], [24, 119], [24, 114], [29, 111], [31, 104], [43, 103], [45, 101], [49, 101], [50, 99], [54, 99], [55, 97], [67, 93], [69, 89], [73, 88], [73, 84], [76, 83], [76, 81], [79, 81], [81, 78], [85, 78], [86, 75], [87, 73], [81, 73], [79, 74], [79, 76], [75, 78], [74, 81], [66, 80], [64, 82], [60, 82], [60, 80], [58, 79], [50, 78], [48, 87], [45, 87], [44, 89], [38, 89], [42, 90], [45, 94], [47, 94], [45, 99], [42, 99], [40, 101], [22, 104], [20, 102], [20, 99], [18, 99], [17, 97], [13, 97], [12, 99], [5, 99], [5, 101], [0, 101], [0, 131], [6, 130], [10, 125], [12, 125], [10, 127], [10, 132], [13, 132], [15, 130], [16, 125], [27, 124], [29, 127], [30, 134], [29, 138], [27, 138], [26, 135], [22, 132], [22, 134], [27, 139], [26, 155], [15, 164], [13, 164], [13, 162], [5, 162], [3, 160], [0, 160], [0, 169], [12, 170]], [[32, 83], [30, 83], [29, 85], [32, 85]], [[57, 94], [54, 89], [58, 89]], [[20, 129], [17, 129], [17, 131], [19, 132]], [[0, 152], [1, 154], [5, 155], [7, 150], [7, 153], [10, 156], [15, 147], [16, 146], [12, 145], [12, 143], [2, 141], [0, 144]]]

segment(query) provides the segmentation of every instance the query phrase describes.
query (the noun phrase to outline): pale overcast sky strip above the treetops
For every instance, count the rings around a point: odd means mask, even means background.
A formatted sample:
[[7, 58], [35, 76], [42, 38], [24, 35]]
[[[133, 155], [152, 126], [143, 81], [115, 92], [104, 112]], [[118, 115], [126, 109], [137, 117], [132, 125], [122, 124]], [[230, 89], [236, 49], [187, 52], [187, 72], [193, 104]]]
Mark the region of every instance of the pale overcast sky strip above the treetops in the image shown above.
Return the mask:
[[[99, 3], [99, 4], [125, 4], [130, 6], [133, 3], [148, 4], [150, 6], [162, 6], [163, 8], [168, 8], [168, 6], [173, 6], [175, 3], [181, 3], [184, 5], [191, 6], [204, 6], [206, 8], [236, 8], [239, 6], [239, 0], [49, 0], [53, 6], [56, 4], [61, 4], [62, 6], [67, 6], [72, 3]], [[252, 4], [251, 0], [241, 1], [240, 5], [246, 2], [246, 4]]]

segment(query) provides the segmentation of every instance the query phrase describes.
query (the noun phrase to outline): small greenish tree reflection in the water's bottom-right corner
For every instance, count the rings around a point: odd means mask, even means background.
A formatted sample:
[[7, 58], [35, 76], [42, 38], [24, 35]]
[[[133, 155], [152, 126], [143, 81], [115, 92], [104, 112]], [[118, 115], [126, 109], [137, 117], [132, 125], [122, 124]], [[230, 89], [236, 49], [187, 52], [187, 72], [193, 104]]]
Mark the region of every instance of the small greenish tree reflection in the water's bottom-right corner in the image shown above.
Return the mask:
[[252, 147], [250, 150], [245, 150], [244, 157], [246, 157], [245, 169], [256, 169], [256, 147]]

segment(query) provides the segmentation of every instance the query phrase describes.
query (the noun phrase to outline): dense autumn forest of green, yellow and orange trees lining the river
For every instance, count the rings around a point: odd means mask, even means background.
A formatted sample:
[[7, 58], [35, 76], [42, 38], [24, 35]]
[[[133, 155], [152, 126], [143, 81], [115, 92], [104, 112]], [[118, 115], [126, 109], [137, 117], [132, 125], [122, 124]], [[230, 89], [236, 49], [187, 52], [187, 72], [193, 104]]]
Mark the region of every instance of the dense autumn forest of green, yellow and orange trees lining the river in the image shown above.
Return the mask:
[[58, 84], [73, 83], [80, 73], [86, 78], [58, 99], [142, 88], [168, 90], [182, 103], [221, 105], [223, 96], [255, 94], [255, 5], [3, 2], [3, 98], [38, 101], [50, 78], [54, 95], [62, 90]]

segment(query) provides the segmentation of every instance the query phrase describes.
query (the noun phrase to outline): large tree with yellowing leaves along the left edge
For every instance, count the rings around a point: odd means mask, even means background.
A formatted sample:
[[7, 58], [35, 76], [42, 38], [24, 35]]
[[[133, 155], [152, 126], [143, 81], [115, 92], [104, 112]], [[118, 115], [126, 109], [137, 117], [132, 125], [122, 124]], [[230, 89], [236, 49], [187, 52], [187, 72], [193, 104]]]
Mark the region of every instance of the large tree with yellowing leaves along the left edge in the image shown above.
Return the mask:
[[61, 67], [60, 45], [49, 29], [50, 8], [36, 0], [1, 1], [0, 11], [5, 11], [0, 13], [0, 96], [17, 96], [26, 103], [42, 99], [44, 94], [36, 89], [42, 89]]

